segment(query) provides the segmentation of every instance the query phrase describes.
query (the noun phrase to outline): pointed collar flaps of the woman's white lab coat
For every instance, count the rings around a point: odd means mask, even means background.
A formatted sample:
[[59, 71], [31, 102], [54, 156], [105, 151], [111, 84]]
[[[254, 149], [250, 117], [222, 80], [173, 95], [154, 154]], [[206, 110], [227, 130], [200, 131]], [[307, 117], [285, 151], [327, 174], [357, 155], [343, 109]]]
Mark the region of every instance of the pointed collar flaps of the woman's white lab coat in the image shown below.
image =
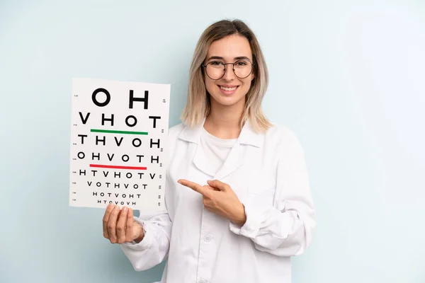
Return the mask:
[[[203, 129], [203, 125], [205, 124], [205, 118], [202, 122], [200, 122], [195, 127], [188, 127], [185, 125], [183, 128], [183, 131], [181, 131], [181, 134], [179, 135], [180, 139], [183, 139], [185, 141], [193, 142], [195, 144], [199, 144], [200, 142], [200, 134]], [[239, 134], [239, 144], [246, 144], [249, 146], [256, 146], [261, 147], [261, 135], [254, 131], [254, 129], [251, 127], [249, 120], [246, 120], [244, 126], [242, 127], [242, 131]]]

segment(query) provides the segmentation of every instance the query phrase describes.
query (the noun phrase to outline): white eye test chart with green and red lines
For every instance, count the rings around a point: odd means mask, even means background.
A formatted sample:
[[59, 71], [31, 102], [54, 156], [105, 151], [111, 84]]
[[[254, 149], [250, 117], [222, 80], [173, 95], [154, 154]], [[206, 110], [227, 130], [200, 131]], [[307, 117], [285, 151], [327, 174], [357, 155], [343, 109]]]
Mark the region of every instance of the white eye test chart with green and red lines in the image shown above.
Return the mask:
[[170, 88], [72, 80], [69, 206], [164, 211]]

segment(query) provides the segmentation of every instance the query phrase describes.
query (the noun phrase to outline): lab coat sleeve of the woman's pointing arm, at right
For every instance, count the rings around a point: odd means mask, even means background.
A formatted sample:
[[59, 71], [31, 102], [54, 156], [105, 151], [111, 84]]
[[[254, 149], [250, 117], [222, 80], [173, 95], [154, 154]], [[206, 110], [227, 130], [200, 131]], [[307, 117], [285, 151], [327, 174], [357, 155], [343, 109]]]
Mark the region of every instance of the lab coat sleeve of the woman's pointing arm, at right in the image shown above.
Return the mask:
[[300, 255], [310, 246], [316, 221], [304, 152], [292, 132], [281, 142], [276, 174], [273, 206], [259, 205], [248, 194], [241, 200], [245, 224], [230, 223], [229, 228], [251, 238], [258, 250], [284, 257]]

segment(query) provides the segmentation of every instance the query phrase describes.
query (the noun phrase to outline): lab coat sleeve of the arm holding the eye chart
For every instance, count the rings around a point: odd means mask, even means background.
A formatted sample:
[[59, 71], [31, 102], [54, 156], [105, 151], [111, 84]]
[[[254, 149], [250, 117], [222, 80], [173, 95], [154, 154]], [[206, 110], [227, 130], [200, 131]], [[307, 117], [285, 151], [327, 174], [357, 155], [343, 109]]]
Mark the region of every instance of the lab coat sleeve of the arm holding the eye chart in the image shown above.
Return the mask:
[[164, 212], [149, 219], [135, 217], [144, 231], [145, 238], [140, 243], [123, 243], [121, 248], [137, 271], [148, 270], [166, 259], [169, 253], [172, 222]]

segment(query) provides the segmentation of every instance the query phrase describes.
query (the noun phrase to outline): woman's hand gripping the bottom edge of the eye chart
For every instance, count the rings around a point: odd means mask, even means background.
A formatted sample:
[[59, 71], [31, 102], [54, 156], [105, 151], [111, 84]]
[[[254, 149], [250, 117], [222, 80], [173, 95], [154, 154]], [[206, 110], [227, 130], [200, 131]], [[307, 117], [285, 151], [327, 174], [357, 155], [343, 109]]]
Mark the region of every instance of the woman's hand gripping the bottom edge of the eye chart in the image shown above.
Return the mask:
[[109, 204], [103, 215], [103, 236], [111, 243], [140, 243], [145, 232], [142, 226], [133, 219], [131, 208]]

